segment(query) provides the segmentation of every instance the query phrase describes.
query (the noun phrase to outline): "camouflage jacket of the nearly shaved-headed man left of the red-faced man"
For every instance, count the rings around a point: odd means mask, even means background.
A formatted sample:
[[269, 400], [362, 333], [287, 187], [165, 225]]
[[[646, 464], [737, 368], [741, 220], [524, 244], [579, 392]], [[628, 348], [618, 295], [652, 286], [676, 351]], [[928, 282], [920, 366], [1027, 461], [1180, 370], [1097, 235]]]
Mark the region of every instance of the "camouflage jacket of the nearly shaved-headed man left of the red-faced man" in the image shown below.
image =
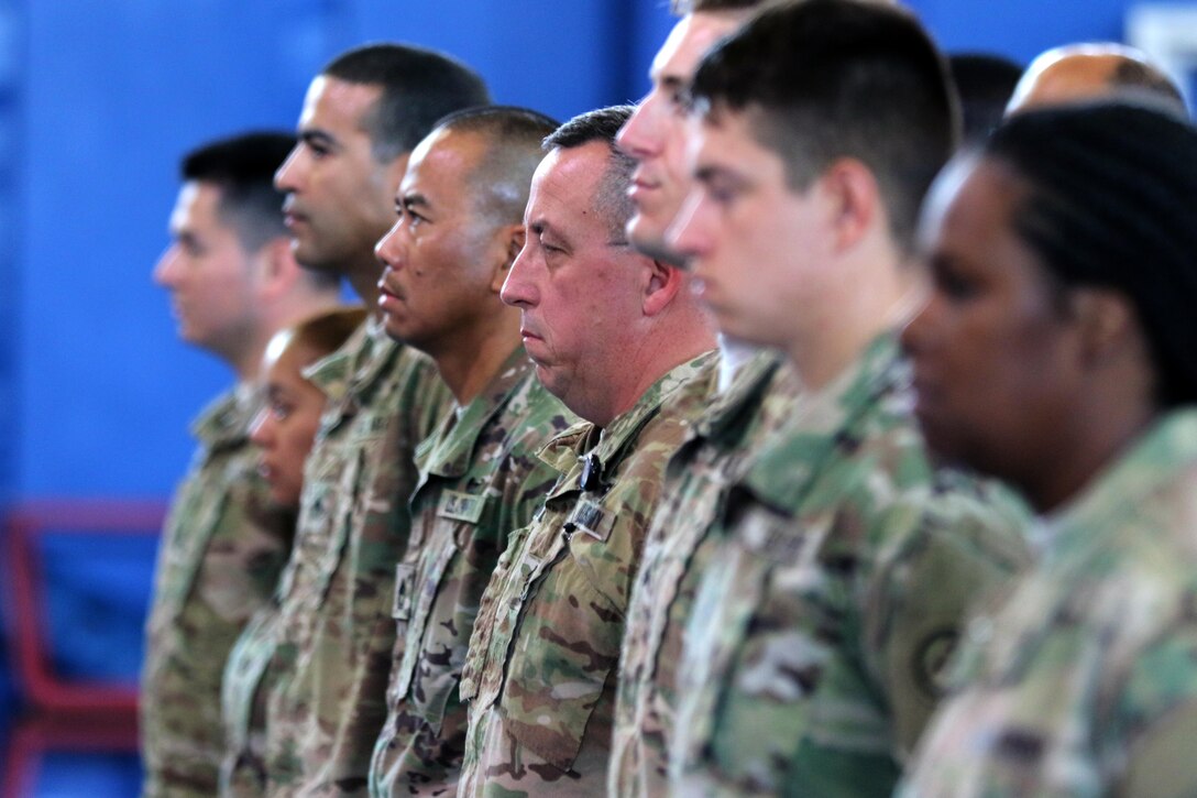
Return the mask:
[[557, 472], [535, 453], [577, 421], [533, 374], [523, 346], [417, 451], [412, 537], [395, 580], [390, 711], [373, 796], [452, 794], [466, 745], [457, 694], [479, 600], [508, 537], [531, 521]]

